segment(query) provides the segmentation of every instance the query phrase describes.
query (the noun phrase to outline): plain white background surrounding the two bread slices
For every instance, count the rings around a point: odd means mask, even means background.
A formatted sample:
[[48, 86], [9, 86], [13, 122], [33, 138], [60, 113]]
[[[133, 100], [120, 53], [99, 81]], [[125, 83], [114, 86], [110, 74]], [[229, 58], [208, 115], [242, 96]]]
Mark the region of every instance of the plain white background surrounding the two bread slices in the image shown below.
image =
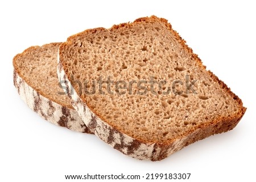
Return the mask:
[[[1, 1], [0, 181], [65, 181], [64, 175], [121, 172], [192, 173], [187, 181], [253, 181], [255, 7], [253, 1]], [[234, 130], [160, 162], [141, 161], [93, 135], [50, 124], [19, 98], [13, 86], [15, 54], [31, 45], [65, 41], [87, 28], [109, 28], [150, 15], [168, 19], [207, 69], [243, 100], [247, 111]]]

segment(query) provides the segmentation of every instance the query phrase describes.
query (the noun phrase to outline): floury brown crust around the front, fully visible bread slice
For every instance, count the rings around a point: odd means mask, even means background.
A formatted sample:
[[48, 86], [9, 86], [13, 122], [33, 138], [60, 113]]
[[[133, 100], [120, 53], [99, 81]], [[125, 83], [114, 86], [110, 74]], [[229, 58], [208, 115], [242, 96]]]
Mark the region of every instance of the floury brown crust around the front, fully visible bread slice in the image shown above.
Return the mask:
[[[139, 18], [135, 20], [133, 23], [122, 23], [119, 25], [115, 25], [110, 29], [105, 28], [95, 28], [95, 29], [88, 29], [84, 32], [77, 33], [68, 38], [67, 42], [60, 45], [60, 49], [63, 49], [65, 46], [72, 46], [72, 39], [76, 39], [77, 37], [82, 37], [87, 33], [96, 33], [98, 31], [112, 31], [113, 29], [118, 29], [120, 27], [130, 27], [134, 26], [139, 22], [144, 22], [148, 20], [160, 20], [163, 22], [166, 27], [175, 35], [175, 39], [179, 41], [179, 43], [183, 46], [185, 50], [189, 53], [189, 56], [194, 58], [197, 62], [197, 65], [205, 70], [206, 67], [201, 62], [200, 58], [197, 54], [194, 54], [192, 49], [185, 44], [185, 41], [179, 36], [179, 34], [174, 31], [171, 27], [171, 24], [167, 22], [166, 19], [157, 18], [156, 16], [146, 17], [146, 18]], [[61, 64], [61, 57], [58, 54], [58, 66], [57, 66], [57, 73], [61, 80], [66, 81], [66, 86], [68, 90], [71, 88], [71, 82], [65, 75], [65, 67]], [[82, 120], [85, 122], [86, 126], [94, 133], [96, 136], [101, 138], [103, 141], [108, 143], [114, 149], [121, 151], [123, 154], [132, 156], [133, 158], [137, 159], [149, 159], [149, 160], [162, 160], [167, 156], [171, 155], [175, 151], [182, 149], [183, 147], [199, 141], [200, 139], [207, 138], [213, 134], [227, 132], [228, 130], [232, 130], [238, 122], [241, 120], [242, 116], [244, 115], [246, 108], [243, 107], [242, 100], [235, 95], [228, 86], [220, 79], [216, 77], [211, 71], [208, 71], [209, 76], [212, 79], [220, 84], [220, 86], [230, 95], [233, 99], [238, 101], [238, 112], [234, 116], [224, 117], [220, 116], [216, 118], [212, 122], [208, 122], [204, 125], [197, 125], [195, 129], [189, 130], [188, 132], [184, 133], [183, 136], [179, 138], [173, 138], [170, 141], [166, 141], [164, 143], [147, 143], [146, 141], [142, 141], [140, 139], [135, 139], [133, 137], [127, 136], [127, 134], [121, 132], [122, 129], [116, 128], [116, 126], [110, 125], [107, 121], [102, 120], [102, 116], [97, 113], [97, 111], [92, 112], [92, 107], [90, 103], [82, 100], [79, 95], [77, 94], [76, 90], [71, 95], [68, 93], [68, 96], [73, 100], [72, 105], [79, 113]]]

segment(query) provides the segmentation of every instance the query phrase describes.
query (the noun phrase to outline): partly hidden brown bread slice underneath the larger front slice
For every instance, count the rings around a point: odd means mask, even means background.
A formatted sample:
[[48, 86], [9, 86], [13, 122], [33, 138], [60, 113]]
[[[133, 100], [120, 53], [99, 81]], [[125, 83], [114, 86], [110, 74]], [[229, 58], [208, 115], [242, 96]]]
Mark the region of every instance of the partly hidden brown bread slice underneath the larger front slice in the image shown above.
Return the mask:
[[13, 59], [14, 86], [28, 107], [58, 126], [91, 133], [59, 87], [57, 50], [60, 43], [31, 46]]

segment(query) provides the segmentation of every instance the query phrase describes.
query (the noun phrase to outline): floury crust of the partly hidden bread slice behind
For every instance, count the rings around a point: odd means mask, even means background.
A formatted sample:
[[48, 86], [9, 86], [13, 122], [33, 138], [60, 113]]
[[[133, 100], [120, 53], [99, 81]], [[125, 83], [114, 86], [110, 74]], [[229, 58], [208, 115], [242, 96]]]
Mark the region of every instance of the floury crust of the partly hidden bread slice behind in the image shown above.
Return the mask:
[[[57, 44], [59, 45], [60, 43], [53, 43], [53, 45]], [[15, 56], [14, 60], [18, 56], [23, 56], [24, 53], [36, 50], [37, 48], [39, 48], [39, 46], [32, 46], [24, 50], [22, 54]], [[36, 91], [22, 78], [22, 76], [19, 75], [19, 69], [16, 66], [15, 61], [13, 63], [15, 65], [13, 73], [14, 86], [18, 91], [20, 98], [28, 105], [29, 108], [38, 113], [38, 115], [45, 120], [57, 126], [63, 126], [76, 132], [92, 133], [86, 127], [84, 122], [82, 122], [75, 109], [58, 104], [54, 100], [46, 98], [43, 93]]]

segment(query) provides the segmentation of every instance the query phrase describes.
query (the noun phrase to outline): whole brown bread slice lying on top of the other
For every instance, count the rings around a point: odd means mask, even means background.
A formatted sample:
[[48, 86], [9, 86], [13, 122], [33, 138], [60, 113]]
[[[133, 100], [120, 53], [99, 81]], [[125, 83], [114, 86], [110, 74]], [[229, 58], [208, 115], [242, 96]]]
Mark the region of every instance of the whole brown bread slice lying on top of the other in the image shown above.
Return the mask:
[[68, 94], [86, 126], [134, 158], [162, 160], [233, 129], [246, 111], [156, 16], [71, 36], [58, 60], [58, 75], [75, 89]]

